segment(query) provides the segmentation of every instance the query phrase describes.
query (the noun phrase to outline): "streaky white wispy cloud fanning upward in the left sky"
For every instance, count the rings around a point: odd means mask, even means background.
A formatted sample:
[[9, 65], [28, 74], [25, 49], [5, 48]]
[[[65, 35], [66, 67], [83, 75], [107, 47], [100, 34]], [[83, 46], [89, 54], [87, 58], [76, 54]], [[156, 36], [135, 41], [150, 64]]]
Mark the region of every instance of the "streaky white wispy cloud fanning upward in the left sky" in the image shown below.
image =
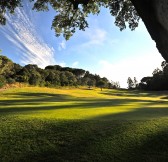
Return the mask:
[[25, 8], [18, 8], [15, 15], [7, 15], [7, 20], [8, 23], [1, 32], [17, 47], [21, 63], [37, 64], [42, 68], [56, 63], [54, 48], [38, 33], [37, 27], [32, 23], [32, 13], [26, 12]]

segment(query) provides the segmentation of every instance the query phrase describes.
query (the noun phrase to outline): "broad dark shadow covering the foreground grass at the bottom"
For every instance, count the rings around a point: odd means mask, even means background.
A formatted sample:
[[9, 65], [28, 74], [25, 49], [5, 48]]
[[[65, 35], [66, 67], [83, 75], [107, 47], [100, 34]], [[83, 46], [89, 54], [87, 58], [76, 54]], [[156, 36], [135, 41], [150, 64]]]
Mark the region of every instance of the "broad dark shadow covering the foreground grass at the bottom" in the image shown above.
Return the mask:
[[[36, 127], [39, 125], [40, 127]], [[18, 121], [0, 139], [0, 161], [164, 162], [168, 120]], [[2, 127], [2, 126], [1, 126]], [[5, 129], [5, 128], [3, 128]], [[152, 132], [153, 131], [153, 132]], [[8, 147], [12, 146], [12, 147]]]

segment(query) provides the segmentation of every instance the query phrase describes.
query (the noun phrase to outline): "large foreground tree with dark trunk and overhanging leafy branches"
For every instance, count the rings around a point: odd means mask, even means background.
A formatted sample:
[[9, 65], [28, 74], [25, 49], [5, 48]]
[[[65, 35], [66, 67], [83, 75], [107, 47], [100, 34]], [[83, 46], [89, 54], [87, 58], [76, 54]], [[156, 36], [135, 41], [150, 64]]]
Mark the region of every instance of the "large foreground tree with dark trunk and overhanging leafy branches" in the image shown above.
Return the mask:
[[[138, 26], [140, 17], [144, 21], [152, 39], [162, 56], [168, 60], [168, 21], [166, 0], [29, 0], [34, 3], [37, 11], [56, 11], [52, 28], [56, 36], [68, 40], [76, 29], [85, 30], [88, 27], [86, 18], [89, 14], [98, 14], [101, 7], [110, 10], [115, 17], [115, 24], [123, 30], [128, 24], [131, 30]], [[0, 1], [0, 24], [6, 23], [5, 14], [13, 13], [15, 8], [22, 5], [22, 0]], [[140, 17], [139, 17], [139, 15]]]

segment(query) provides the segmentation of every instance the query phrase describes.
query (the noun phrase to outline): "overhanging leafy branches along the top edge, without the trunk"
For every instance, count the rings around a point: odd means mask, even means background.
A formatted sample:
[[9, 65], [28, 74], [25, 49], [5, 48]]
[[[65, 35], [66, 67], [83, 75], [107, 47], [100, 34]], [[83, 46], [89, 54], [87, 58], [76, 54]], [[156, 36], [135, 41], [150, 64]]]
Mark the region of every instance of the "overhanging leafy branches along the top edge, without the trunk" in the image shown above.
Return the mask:
[[[115, 25], [123, 30], [127, 24], [131, 30], [138, 26], [140, 17], [130, 0], [29, 0], [36, 11], [48, 11], [52, 7], [56, 15], [52, 22], [55, 35], [68, 40], [76, 30], [88, 27], [89, 14], [99, 14], [102, 7], [108, 8], [115, 17]], [[6, 24], [7, 13], [14, 13], [23, 5], [22, 0], [0, 1], [0, 24]]]

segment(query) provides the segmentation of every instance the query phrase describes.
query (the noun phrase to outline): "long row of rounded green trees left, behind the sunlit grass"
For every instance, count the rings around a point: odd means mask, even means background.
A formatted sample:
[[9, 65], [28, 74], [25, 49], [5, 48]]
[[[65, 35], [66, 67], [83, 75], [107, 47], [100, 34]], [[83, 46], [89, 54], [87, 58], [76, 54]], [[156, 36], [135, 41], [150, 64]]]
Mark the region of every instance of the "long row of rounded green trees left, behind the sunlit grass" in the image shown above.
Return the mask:
[[91, 74], [83, 69], [50, 65], [45, 69], [37, 65], [28, 64], [20, 66], [13, 63], [6, 56], [0, 56], [0, 87], [15, 82], [28, 83], [34, 86], [59, 87], [59, 86], [92, 86], [119, 88], [118, 82], [110, 82], [97, 74]]

